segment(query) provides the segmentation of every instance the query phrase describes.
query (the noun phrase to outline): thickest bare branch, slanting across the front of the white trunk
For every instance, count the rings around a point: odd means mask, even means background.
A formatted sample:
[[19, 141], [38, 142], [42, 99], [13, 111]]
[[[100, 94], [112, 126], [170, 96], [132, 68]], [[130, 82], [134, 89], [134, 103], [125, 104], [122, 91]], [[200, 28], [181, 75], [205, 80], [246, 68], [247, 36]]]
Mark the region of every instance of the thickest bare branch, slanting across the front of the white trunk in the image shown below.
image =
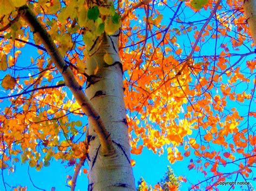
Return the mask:
[[98, 112], [92, 107], [90, 100], [84, 94], [84, 91], [82, 90], [83, 88], [79, 86], [69, 65], [66, 64], [60, 55], [60, 52], [58, 51], [50, 34], [45, 30], [45, 28], [36, 18], [35, 13], [33, 13], [27, 5], [17, 8], [17, 11], [21, 14], [21, 17], [25, 20], [25, 22], [28, 23], [28, 25], [32, 28], [33, 33], [41, 40], [53, 63], [55, 63], [55, 66], [62, 74], [66, 86], [71, 90], [85, 115], [92, 119], [93, 129], [97, 133], [100, 144], [102, 145], [102, 154], [113, 154], [114, 147], [110, 133], [106, 130]]

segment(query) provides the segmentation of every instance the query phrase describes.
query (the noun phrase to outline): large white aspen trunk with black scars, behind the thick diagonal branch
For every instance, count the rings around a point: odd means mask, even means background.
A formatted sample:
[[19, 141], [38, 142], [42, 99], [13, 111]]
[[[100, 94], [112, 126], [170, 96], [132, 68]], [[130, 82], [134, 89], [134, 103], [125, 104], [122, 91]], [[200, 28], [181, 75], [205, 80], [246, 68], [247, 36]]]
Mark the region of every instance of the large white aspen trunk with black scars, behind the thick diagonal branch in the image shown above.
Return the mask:
[[[110, 132], [116, 152], [107, 156], [100, 153], [100, 142], [89, 118], [88, 190], [134, 190], [118, 36], [104, 35], [94, 47], [90, 52], [92, 56], [86, 60], [85, 72], [90, 77], [85, 91]], [[105, 63], [106, 53], [112, 56], [112, 65]]]

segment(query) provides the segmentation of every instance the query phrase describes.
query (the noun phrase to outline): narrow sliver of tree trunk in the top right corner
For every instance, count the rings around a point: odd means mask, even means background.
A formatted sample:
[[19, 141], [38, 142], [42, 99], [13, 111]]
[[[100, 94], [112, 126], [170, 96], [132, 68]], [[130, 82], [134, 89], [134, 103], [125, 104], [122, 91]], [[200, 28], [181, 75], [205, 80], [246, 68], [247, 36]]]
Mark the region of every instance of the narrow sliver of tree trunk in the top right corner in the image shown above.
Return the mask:
[[245, 16], [256, 45], [256, 0], [244, 0]]

